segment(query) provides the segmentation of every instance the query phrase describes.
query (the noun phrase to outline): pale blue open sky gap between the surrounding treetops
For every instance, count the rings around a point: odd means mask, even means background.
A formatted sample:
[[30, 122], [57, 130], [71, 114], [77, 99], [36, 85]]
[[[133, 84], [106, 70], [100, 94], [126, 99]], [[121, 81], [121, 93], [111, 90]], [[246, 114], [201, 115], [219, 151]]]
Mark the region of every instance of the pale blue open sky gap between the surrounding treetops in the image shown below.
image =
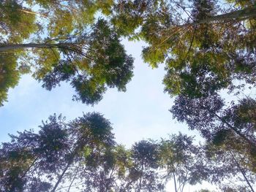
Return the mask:
[[[46, 91], [41, 83], [24, 75], [19, 85], [10, 90], [8, 102], [0, 107], [0, 142], [8, 141], [8, 134], [17, 131], [31, 128], [37, 131], [42, 120], [47, 120], [53, 113], [73, 120], [82, 116], [83, 112], [94, 111], [110, 120], [116, 142], [127, 147], [141, 139], [167, 138], [168, 134], [177, 134], [178, 131], [198, 135], [197, 131], [189, 131], [185, 124], [173, 120], [168, 111], [174, 99], [163, 92], [164, 66], [151, 69], [143, 63], [140, 53], [145, 45], [142, 42], [123, 40], [123, 43], [127, 53], [135, 58], [134, 77], [128, 83], [126, 92], [108, 89], [102, 101], [91, 107], [72, 101], [74, 91], [68, 83], [64, 82], [60, 87]], [[171, 188], [173, 186], [169, 183], [168, 191], [172, 191]], [[187, 191], [196, 188], [198, 185], [187, 188]]]

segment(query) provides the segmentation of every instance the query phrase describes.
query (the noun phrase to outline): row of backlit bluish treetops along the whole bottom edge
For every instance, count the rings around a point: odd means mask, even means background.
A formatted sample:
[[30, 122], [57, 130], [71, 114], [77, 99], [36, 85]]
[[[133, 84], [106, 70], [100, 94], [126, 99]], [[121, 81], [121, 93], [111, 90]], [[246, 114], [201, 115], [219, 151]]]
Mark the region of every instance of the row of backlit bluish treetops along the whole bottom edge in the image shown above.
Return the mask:
[[54, 114], [39, 131], [18, 132], [1, 143], [0, 190], [165, 191], [171, 182], [181, 192], [185, 185], [208, 181], [223, 191], [252, 191], [255, 162], [239, 147], [244, 146], [195, 145], [192, 137], [179, 133], [127, 149], [115, 142], [110, 121], [97, 112], [69, 122]]

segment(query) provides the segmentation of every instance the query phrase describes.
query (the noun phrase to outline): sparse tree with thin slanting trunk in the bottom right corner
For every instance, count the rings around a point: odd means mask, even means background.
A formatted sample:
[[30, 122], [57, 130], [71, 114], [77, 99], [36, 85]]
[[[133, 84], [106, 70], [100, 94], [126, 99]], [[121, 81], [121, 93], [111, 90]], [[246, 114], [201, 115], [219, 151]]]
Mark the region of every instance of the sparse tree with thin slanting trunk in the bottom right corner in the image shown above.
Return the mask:
[[[222, 191], [255, 191], [255, 158], [235, 134], [222, 139], [218, 133], [204, 146], [208, 167], [208, 181], [219, 185]], [[227, 137], [227, 136], [226, 136]], [[233, 146], [231, 146], [233, 145]]]

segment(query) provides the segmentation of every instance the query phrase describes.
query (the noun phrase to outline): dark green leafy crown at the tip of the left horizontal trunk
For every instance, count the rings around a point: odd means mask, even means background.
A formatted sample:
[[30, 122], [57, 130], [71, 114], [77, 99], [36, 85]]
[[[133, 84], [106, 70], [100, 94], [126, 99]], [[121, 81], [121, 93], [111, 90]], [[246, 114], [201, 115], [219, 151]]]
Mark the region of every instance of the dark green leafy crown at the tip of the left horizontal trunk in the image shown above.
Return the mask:
[[[133, 58], [127, 55], [123, 45], [105, 20], [91, 26], [90, 34], [81, 35], [61, 42], [56, 54], [53, 50], [39, 50], [42, 61], [37, 61], [35, 72], [43, 87], [51, 90], [61, 81], [70, 81], [78, 95], [74, 99], [86, 104], [95, 104], [102, 99], [107, 87], [126, 91], [132, 77]], [[79, 47], [69, 46], [76, 41]], [[84, 51], [86, 50], [86, 51]], [[56, 55], [62, 54], [64, 59]]]

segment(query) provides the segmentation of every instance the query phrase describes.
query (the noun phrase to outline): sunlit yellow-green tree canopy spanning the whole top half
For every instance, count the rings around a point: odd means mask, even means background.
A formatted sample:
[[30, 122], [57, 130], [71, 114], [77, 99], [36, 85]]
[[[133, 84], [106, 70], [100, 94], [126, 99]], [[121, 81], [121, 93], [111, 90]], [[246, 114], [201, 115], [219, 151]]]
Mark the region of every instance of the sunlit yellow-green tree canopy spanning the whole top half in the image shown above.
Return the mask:
[[[86, 104], [102, 99], [106, 87], [125, 91], [132, 58], [120, 36], [148, 43], [144, 61], [153, 67], [165, 63], [165, 91], [171, 96], [200, 98], [255, 85], [253, 1], [26, 0], [3, 1], [0, 8], [0, 51], [15, 50], [14, 74], [33, 66], [34, 77], [48, 90], [70, 81], [77, 91], [74, 99]], [[98, 12], [107, 20], [98, 20]], [[9, 73], [2, 74], [7, 79]], [[2, 101], [18, 82], [15, 77], [4, 83]]]

